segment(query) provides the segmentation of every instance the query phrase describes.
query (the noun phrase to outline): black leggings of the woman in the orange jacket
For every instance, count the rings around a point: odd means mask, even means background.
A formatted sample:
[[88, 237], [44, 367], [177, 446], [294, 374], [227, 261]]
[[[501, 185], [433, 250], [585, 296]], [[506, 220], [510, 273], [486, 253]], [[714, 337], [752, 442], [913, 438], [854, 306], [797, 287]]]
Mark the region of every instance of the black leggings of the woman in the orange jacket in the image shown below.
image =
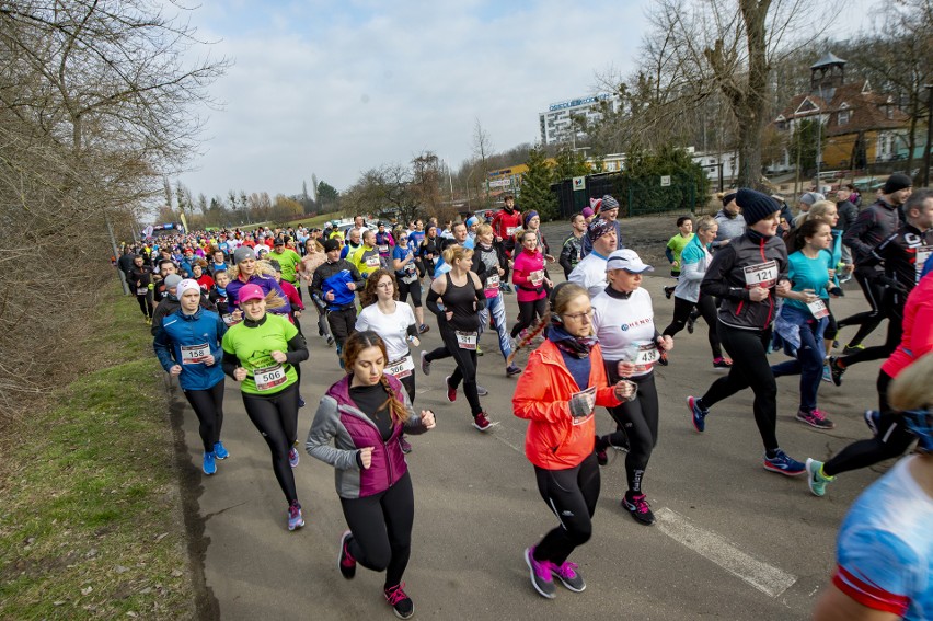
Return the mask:
[[563, 565], [571, 552], [592, 536], [592, 514], [599, 501], [599, 464], [590, 453], [566, 470], [535, 465], [534, 478], [538, 492], [561, 521], [534, 547], [534, 560]]

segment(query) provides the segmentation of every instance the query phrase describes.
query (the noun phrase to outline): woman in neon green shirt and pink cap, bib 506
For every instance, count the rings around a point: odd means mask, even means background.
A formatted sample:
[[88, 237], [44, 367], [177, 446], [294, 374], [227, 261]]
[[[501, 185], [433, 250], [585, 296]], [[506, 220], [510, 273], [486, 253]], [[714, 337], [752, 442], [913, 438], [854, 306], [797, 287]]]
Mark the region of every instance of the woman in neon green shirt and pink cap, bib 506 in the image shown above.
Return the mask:
[[[240, 249], [238, 249], [240, 250]], [[288, 319], [266, 312], [284, 299], [264, 295], [258, 285], [239, 291], [244, 319], [223, 335], [223, 372], [240, 382], [246, 415], [266, 440], [273, 471], [288, 502], [288, 530], [304, 526], [295, 488], [298, 465], [298, 375], [308, 346]]]

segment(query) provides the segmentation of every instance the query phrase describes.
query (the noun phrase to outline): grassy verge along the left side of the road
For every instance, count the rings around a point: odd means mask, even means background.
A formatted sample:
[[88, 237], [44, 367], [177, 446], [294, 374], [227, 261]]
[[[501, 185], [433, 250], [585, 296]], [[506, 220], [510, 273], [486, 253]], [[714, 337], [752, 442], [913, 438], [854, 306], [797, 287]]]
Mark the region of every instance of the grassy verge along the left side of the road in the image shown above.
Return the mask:
[[194, 618], [169, 405], [149, 330], [123, 296], [102, 304], [88, 329], [97, 370], [4, 430], [15, 441], [0, 458], [0, 619]]

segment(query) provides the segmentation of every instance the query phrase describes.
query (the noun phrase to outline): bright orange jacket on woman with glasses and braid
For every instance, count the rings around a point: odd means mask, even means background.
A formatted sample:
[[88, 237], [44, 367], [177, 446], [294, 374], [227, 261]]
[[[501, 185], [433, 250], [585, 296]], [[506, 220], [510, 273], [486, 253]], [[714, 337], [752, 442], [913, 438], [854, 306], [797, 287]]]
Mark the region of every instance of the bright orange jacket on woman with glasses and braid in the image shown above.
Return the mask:
[[[597, 387], [596, 404], [614, 407], [621, 402], [614, 387], [608, 386], [602, 350], [596, 345], [589, 354], [589, 386]], [[548, 470], [566, 470], [578, 465], [592, 452], [596, 439], [594, 414], [584, 418], [571, 416], [567, 402], [579, 387], [564, 365], [560, 349], [545, 341], [528, 359], [511, 405], [515, 415], [528, 418], [525, 455], [534, 465]]]

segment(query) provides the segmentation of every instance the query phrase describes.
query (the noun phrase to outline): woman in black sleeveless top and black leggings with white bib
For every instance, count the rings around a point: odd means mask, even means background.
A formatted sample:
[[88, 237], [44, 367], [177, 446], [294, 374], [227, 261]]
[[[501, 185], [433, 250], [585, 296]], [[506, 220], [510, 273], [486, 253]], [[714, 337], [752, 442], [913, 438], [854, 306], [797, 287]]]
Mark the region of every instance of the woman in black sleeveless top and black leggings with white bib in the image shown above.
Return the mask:
[[[463, 392], [473, 414], [473, 426], [481, 432], [493, 427], [480, 404], [476, 384], [476, 343], [479, 338], [480, 315], [486, 307], [486, 296], [480, 277], [470, 268], [473, 265], [473, 251], [457, 244], [444, 251], [444, 261], [450, 272], [430, 284], [427, 295], [427, 308], [437, 315], [437, 327], [444, 346], [434, 352], [422, 352], [422, 372], [430, 375], [430, 364], [452, 356], [457, 363], [453, 373], [445, 378], [447, 400], [457, 401], [457, 387], [463, 380]], [[444, 309], [438, 307], [442, 299]], [[484, 394], [487, 391], [483, 390]]]

